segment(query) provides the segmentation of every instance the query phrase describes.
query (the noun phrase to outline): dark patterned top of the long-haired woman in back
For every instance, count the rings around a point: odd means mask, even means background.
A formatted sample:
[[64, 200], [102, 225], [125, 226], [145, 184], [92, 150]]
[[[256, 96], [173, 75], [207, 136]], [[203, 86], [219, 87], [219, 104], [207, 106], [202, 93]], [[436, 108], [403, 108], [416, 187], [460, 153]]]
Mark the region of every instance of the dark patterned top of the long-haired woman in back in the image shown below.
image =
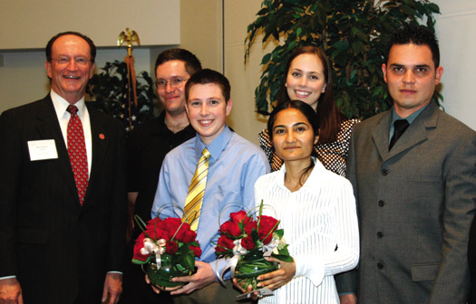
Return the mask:
[[[327, 144], [317, 144], [314, 149], [317, 159], [327, 170], [345, 176], [347, 152], [349, 151], [350, 136], [354, 125], [359, 119], [347, 119], [341, 123], [341, 129], [337, 133], [337, 140]], [[283, 166], [283, 160], [277, 156], [265, 128], [258, 134], [259, 146], [265, 151], [272, 171], [277, 171]]]

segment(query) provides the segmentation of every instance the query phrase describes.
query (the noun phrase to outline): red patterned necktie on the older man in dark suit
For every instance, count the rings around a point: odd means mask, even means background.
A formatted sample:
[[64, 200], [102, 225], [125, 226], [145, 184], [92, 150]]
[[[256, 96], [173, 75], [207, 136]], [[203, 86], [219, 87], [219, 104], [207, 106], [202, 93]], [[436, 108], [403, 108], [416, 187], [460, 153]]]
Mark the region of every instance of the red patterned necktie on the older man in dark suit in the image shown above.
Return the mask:
[[86, 154], [86, 143], [84, 141], [84, 131], [81, 119], [78, 117], [78, 108], [70, 105], [68, 112], [71, 113], [68, 121], [68, 155], [73, 167], [74, 181], [78, 189], [80, 204], [84, 203], [84, 195], [88, 187], [88, 157]]

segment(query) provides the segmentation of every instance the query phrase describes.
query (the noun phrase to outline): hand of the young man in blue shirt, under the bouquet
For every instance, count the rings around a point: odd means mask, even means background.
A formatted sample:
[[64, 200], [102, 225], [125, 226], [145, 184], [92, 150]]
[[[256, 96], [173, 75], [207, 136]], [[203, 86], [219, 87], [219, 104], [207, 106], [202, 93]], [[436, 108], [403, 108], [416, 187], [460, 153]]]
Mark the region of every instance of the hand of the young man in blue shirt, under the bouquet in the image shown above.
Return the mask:
[[187, 277], [175, 277], [172, 281], [181, 281], [189, 284], [183, 285], [179, 290], [170, 292], [172, 296], [180, 295], [182, 293], [190, 294], [194, 290], [201, 290], [205, 286], [215, 281], [215, 273], [209, 263], [203, 261], [195, 261], [197, 272]]

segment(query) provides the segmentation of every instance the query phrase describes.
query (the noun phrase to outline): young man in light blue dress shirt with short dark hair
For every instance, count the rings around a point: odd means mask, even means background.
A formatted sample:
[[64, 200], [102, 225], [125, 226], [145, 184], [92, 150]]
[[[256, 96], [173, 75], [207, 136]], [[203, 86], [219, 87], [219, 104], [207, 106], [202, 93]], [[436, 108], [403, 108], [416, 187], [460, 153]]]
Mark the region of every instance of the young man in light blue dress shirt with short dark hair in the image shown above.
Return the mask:
[[[217, 239], [219, 221], [226, 221], [230, 212], [254, 208], [253, 187], [257, 177], [269, 172], [269, 165], [259, 147], [238, 136], [226, 124], [232, 101], [225, 76], [209, 69], [199, 71], [187, 82], [185, 94], [187, 114], [197, 136], [165, 157], [151, 214], [155, 217], [162, 210], [161, 218], [182, 215], [175, 208], [162, 208], [177, 204], [184, 209], [190, 181], [206, 147], [211, 156], [197, 228], [202, 254], [195, 262], [197, 273], [174, 278], [174, 281], [188, 284], [171, 294], [178, 296], [174, 298], [176, 303], [194, 300], [199, 303], [234, 302], [239, 292], [233, 290], [229, 280], [227, 288], [218, 282], [216, 274], [227, 261], [216, 261], [212, 241]], [[229, 274], [225, 278], [229, 279]]]

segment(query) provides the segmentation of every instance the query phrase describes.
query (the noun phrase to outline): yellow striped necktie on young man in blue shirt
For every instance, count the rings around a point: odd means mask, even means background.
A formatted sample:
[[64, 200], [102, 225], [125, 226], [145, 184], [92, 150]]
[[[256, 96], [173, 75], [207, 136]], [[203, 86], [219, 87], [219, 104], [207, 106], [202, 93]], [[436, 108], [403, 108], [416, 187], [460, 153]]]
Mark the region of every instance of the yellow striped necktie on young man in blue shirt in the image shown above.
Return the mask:
[[191, 179], [189, 185], [189, 194], [185, 200], [185, 210], [183, 217], [190, 224], [193, 231], [197, 231], [199, 227], [199, 216], [201, 204], [203, 202], [203, 194], [207, 185], [207, 175], [209, 174], [209, 157], [210, 153], [207, 148], [201, 151], [201, 157], [197, 164], [197, 170]]

